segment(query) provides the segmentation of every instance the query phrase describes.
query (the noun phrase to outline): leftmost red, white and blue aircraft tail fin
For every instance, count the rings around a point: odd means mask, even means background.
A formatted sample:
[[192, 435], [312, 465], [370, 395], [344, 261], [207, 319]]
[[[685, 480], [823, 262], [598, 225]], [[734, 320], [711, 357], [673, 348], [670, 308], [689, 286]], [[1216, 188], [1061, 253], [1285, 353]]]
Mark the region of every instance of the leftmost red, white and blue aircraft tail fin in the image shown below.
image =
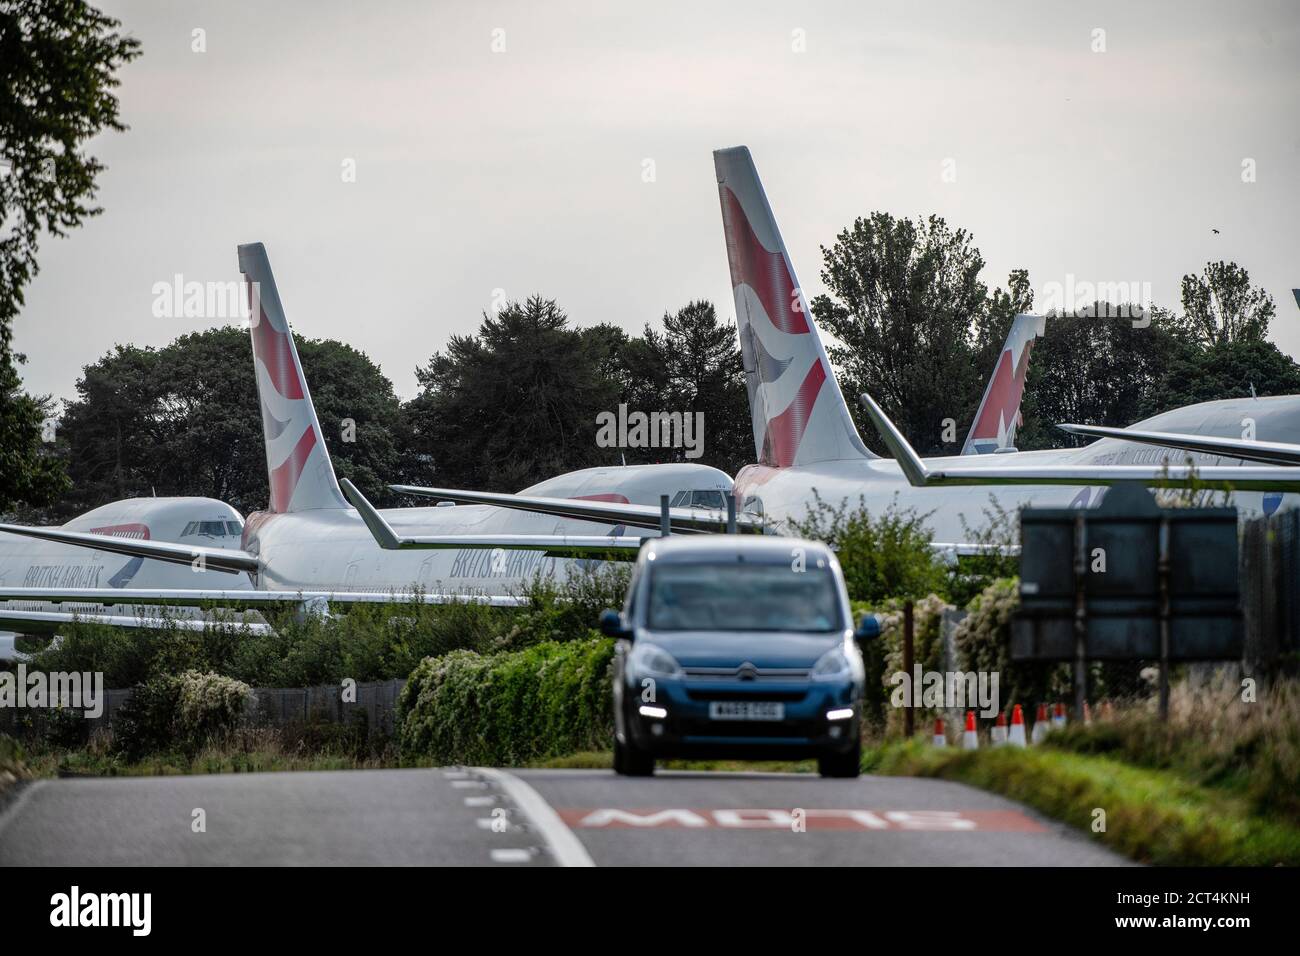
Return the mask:
[[260, 242], [239, 246], [239, 272], [248, 289], [254, 375], [270, 479], [269, 510], [286, 514], [346, 509], [266, 247]]

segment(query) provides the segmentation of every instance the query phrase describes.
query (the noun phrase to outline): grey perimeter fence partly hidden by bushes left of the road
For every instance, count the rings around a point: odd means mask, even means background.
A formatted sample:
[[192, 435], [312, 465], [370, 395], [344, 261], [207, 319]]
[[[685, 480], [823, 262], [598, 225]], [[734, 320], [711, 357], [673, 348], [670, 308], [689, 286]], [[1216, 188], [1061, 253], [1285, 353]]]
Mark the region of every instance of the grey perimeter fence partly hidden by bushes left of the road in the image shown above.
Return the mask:
[[[394, 734], [398, 695], [406, 679], [373, 680], [356, 684], [355, 700], [344, 700], [339, 684], [321, 687], [255, 687], [246, 705], [246, 722], [252, 727], [302, 727], [335, 723], [363, 727], [367, 736], [385, 737]], [[352, 695], [348, 693], [351, 697]], [[113, 717], [131, 697], [131, 688], [104, 691], [103, 713], [86, 718], [90, 734], [108, 730]], [[49, 710], [0, 708], [0, 734], [10, 736], [44, 736], [49, 727]]]

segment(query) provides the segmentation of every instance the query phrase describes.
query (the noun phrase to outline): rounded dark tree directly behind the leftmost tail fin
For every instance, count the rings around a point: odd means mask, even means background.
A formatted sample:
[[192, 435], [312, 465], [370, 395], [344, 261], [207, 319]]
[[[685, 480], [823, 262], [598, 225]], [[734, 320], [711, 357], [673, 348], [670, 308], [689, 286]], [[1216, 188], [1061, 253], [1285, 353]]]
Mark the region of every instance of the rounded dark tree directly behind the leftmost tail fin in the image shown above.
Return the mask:
[[[309, 338], [296, 346], [335, 471], [391, 501], [386, 484], [404, 477], [391, 382], [351, 346]], [[246, 514], [265, 507], [250, 355], [248, 333], [226, 326], [160, 350], [117, 346], [87, 365], [60, 427], [74, 483], [61, 514], [152, 493], [218, 498]]]

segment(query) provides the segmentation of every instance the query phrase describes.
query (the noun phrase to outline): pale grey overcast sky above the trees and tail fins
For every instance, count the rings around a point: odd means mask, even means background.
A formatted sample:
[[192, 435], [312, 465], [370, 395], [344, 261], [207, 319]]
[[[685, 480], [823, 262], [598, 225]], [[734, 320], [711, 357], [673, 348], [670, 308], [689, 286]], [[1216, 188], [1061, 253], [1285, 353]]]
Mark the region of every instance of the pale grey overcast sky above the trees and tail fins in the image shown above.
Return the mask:
[[35, 393], [73, 395], [117, 342], [225, 324], [155, 317], [152, 290], [229, 281], [251, 241], [299, 334], [403, 397], [497, 289], [578, 325], [693, 298], [729, 319], [710, 153], [740, 143], [812, 295], [855, 216], [933, 212], [989, 285], [1024, 267], [1040, 294], [1074, 274], [1174, 304], [1184, 272], [1236, 260], [1300, 355], [1294, 0], [103, 7], [143, 44], [131, 129], [92, 146], [104, 215], [43, 239], [16, 330]]

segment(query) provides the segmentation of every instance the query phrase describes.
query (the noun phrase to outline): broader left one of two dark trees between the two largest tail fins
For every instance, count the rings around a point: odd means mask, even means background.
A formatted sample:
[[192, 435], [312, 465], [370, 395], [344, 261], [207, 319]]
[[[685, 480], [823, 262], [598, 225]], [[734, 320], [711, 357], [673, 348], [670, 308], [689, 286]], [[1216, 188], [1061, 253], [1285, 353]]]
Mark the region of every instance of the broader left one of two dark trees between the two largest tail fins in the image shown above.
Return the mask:
[[416, 369], [407, 405], [415, 450], [439, 484], [517, 492], [575, 468], [618, 462], [595, 444], [595, 416], [619, 403], [608, 371], [619, 336], [575, 329], [554, 299], [533, 295], [484, 315]]

